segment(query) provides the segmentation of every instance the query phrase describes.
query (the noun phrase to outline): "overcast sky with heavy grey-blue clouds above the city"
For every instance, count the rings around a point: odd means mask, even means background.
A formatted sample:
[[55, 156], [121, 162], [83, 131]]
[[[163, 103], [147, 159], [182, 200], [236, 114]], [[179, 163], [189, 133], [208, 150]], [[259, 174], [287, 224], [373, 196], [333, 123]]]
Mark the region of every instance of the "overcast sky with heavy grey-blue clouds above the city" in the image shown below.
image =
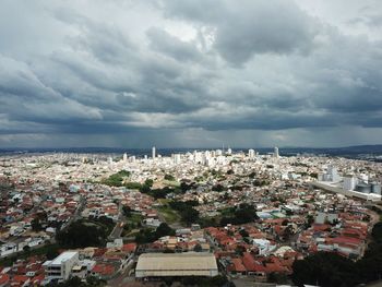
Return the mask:
[[380, 143], [380, 0], [0, 2], [0, 147]]

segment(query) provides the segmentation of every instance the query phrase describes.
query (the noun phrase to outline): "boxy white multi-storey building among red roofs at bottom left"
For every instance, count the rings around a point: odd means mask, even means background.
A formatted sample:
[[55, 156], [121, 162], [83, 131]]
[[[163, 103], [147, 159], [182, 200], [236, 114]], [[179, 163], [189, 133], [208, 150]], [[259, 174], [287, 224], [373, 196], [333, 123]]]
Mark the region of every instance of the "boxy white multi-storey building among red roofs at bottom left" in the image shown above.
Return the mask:
[[79, 263], [79, 252], [67, 251], [52, 261], [44, 263], [45, 275], [48, 282], [69, 279], [72, 268]]

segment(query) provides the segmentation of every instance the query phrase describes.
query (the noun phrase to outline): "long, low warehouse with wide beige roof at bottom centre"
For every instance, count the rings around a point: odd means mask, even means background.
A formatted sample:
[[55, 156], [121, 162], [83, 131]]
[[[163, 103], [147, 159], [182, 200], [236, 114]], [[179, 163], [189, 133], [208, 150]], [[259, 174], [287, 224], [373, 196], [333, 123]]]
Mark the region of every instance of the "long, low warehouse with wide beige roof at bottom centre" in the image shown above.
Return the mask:
[[145, 253], [140, 255], [135, 268], [136, 278], [169, 276], [218, 275], [213, 253]]

